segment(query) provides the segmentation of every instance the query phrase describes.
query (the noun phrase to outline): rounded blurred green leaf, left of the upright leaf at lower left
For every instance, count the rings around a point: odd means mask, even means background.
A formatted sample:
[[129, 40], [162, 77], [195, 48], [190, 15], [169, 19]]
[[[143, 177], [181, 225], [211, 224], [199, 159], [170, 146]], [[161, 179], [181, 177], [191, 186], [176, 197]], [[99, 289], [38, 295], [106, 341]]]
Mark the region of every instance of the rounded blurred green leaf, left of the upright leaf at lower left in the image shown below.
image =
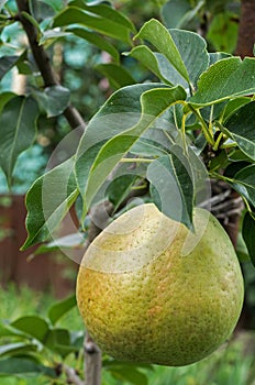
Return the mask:
[[38, 316], [24, 316], [11, 322], [11, 327], [15, 328], [36, 340], [43, 342], [48, 333], [49, 327], [47, 321]]

